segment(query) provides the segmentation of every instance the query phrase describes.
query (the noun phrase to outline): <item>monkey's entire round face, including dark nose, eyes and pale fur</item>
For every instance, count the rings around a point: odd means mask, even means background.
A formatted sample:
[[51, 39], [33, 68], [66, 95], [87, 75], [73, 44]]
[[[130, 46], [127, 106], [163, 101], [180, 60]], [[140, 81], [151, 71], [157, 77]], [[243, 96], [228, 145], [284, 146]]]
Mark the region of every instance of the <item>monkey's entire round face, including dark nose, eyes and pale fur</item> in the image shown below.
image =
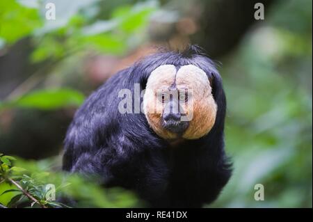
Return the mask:
[[143, 111], [165, 139], [200, 138], [213, 127], [217, 106], [207, 74], [195, 65], [161, 65], [147, 79]]

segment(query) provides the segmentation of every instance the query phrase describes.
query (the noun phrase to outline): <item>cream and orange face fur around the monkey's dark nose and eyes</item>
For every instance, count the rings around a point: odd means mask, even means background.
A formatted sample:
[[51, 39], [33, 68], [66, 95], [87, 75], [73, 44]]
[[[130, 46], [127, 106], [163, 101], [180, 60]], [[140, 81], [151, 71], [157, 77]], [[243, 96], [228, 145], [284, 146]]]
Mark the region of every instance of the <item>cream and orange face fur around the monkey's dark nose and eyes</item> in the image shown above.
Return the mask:
[[184, 65], [178, 71], [174, 65], [161, 65], [150, 74], [143, 97], [143, 111], [150, 127], [162, 138], [179, 137], [162, 127], [165, 104], [159, 99], [159, 93], [173, 87], [179, 92], [188, 91], [188, 101], [180, 101], [179, 105], [190, 121], [180, 136], [195, 139], [209, 133], [215, 122], [217, 105], [207, 74], [195, 65]]

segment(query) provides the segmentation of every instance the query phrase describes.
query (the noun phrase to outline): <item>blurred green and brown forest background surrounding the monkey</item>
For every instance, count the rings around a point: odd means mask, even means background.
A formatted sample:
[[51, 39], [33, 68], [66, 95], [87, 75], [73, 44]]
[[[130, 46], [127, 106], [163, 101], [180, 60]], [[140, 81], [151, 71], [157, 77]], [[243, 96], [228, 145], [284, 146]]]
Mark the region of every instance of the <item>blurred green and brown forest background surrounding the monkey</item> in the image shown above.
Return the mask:
[[[48, 2], [55, 20], [45, 18]], [[264, 20], [253, 16], [256, 2]], [[234, 175], [207, 207], [312, 207], [310, 0], [2, 0], [0, 152], [58, 172], [67, 126], [89, 93], [156, 46], [188, 43], [216, 61], [227, 95]], [[254, 199], [255, 184], [265, 200]], [[132, 206], [129, 198], [94, 205]]]

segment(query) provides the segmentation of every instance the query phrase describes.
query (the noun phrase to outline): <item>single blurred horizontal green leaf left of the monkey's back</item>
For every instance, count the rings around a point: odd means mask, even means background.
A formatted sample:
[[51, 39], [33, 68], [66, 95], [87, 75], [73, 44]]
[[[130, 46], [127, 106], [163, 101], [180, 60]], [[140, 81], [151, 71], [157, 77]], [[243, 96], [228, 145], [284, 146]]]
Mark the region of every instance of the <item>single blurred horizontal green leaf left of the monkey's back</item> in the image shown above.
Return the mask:
[[83, 94], [77, 90], [61, 88], [38, 90], [8, 103], [10, 106], [50, 110], [66, 106], [79, 106], [83, 100]]

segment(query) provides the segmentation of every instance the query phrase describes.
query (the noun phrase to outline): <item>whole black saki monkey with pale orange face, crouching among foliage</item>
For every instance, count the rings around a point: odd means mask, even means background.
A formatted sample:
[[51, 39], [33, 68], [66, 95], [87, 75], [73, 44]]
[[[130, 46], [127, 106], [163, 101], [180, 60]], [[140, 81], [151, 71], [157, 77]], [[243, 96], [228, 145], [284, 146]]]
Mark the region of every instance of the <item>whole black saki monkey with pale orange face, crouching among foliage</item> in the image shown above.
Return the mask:
[[200, 47], [160, 51], [88, 97], [68, 129], [63, 169], [134, 191], [150, 207], [201, 207], [232, 174], [225, 109], [220, 74]]

